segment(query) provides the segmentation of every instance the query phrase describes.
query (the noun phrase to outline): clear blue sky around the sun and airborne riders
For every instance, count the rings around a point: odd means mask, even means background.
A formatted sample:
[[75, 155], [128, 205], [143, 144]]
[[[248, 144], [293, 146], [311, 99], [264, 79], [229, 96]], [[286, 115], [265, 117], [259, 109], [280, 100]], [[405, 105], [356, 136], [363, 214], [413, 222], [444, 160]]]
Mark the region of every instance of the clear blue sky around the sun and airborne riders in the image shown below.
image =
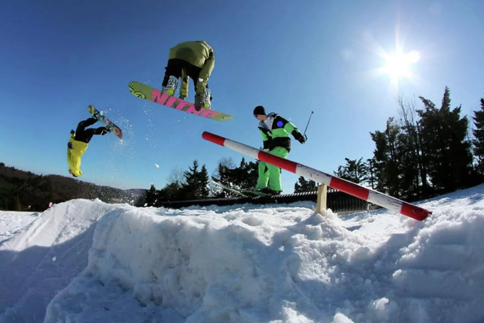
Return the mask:
[[[369, 132], [397, 115], [378, 48], [416, 50], [400, 94], [439, 104], [444, 87], [463, 113], [484, 96], [484, 10], [466, 1], [3, 1], [0, 5], [0, 161], [35, 173], [67, 173], [70, 129], [93, 104], [124, 132], [94, 137], [80, 179], [157, 188], [194, 159], [210, 172], [242, 155], [201, 138], [210, 131], [258, 147], [253, 108], [264, 105], [304, 130], [288, 159], [332, 173], [345, 157], [370, 158]], [[136, 3], [136, 4], [135, 4]], [[398, 37], [397, 37], [398, 35]], [[215, 51], [214, 122], [136, 98], [129, 81], [161, 87], [168, 49], [206, 40]], [[190, 83], [189, 99], [193, 102]], [[419, 102], [417, 102], [419, 103]], [[418, 107], [421, 107], [419, 104]], [[100, 127], [101, 124], [95, 125]], [[159, 168], [155, 166], [159, 165]], [[284, 191], [297, 176], [283, 171]]]

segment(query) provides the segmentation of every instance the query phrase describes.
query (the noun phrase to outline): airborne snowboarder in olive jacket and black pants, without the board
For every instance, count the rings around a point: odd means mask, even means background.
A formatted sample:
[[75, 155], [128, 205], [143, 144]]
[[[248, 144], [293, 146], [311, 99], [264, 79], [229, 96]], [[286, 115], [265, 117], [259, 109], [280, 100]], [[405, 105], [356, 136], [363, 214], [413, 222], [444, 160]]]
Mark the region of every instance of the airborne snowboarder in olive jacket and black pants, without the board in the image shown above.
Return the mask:
[[180, 98], [188, 97], [188, 78], [195, 85], [195, 109], [210, 109], [212, 94], [208, 80], [215, 65], [212, 47], [203, 40], [187, 41], [170, 48], [162, 92], [175, 94], [181, 78]]

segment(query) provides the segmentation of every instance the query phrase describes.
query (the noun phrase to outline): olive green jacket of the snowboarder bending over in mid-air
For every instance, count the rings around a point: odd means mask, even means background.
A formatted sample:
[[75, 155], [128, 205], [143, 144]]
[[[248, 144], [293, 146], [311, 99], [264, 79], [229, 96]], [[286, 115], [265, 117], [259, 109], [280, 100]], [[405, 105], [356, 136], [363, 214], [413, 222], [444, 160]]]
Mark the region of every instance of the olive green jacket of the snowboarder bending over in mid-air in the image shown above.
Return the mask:
[[[187, 61], [188, 63], [201, 68], [196, 87], [197, 93], [203, 93], [207, 81], [212, 74], [213, 66], [215, 65], [213, 48], [203, 40], [183, 42], [170, 48], [168, 59], [172, 58]], [[200, 79], [202, 81], [199, 81]], [[188, 97], [188, 75], [186, 74], [185, 69], [181, 72], [180, 94], [183, 97]]]

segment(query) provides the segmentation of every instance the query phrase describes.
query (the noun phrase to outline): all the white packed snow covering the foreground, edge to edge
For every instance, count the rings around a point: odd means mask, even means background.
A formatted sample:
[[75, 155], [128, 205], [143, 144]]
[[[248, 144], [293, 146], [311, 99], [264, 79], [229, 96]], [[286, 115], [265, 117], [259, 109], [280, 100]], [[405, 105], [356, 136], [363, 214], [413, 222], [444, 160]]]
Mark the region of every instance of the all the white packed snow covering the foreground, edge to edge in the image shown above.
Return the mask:
[[419, 205], [0, 212], [0, 322], [483, 322], [484, 185]]

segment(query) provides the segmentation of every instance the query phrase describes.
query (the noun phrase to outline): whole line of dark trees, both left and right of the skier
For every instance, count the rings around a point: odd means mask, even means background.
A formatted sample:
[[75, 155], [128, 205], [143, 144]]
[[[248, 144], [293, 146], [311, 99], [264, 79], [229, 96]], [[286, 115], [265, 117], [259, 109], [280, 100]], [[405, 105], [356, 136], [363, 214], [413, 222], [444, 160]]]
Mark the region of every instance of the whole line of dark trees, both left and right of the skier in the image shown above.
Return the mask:
[[[454, 192], [483, 182], [484, 171], [484, 98], [474, 111], [474, 127], [461, 116], [461, 105], [451, 108], [450, 90], [444, 89], [440, 107], [419, 97], [398, 98], [397, 118], [387, 119], [383, 130], [370, 132], [375, 143], [373, 156], [364, 160], [345, 158], [346, 164], [333, 174], [406, 201], [416, 201]], [[472, 137], [472, 138], [471, 138]], [[218, 162], [212, 176], [234, 188], [251, 190], [257, 183], [258, 161], [242, 158], [236, 165], [231, 159]], [[294, 193], [317, 190], [318, 183], [299, 177]], [[198, 161], [186, 171], [173, 171], [161, 190], [154, 185], [143, 203], [240, 197], [211, 183], [206, 165]]]

